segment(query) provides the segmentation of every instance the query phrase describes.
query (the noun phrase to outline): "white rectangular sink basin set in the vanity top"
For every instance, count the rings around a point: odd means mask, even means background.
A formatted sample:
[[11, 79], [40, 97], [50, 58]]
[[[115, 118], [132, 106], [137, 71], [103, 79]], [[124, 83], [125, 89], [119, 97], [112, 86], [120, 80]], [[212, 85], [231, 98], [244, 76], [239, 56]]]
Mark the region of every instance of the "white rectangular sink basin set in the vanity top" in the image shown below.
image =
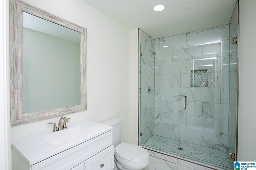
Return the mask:
[[77, 141], [80, 138], [88, 137], [96, 130], [84, 126], [76, 126], [72, 128], [63, 129], [62, 131], [53, 132], [49, 135], [41, 137], [44, 141], [54, 147], [63, 144]]

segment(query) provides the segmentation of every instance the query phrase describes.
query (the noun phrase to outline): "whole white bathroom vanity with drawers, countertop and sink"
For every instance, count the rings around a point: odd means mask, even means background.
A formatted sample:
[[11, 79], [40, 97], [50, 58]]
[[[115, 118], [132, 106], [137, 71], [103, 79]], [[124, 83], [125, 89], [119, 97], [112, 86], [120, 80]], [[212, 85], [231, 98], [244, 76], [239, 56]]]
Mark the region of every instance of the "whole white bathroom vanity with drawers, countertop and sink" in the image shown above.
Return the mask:
[[112, 170], [113, 127], [82, 121], [12, 141], [13, 170]]

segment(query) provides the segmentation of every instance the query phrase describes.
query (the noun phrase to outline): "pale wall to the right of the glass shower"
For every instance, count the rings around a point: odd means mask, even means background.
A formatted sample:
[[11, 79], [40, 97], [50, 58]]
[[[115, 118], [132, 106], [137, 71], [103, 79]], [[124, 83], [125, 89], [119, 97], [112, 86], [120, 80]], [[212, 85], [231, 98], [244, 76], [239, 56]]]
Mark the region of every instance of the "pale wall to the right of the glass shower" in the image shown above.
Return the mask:
[[256, 0], [240, 0], [238, 160], [256, 161]]

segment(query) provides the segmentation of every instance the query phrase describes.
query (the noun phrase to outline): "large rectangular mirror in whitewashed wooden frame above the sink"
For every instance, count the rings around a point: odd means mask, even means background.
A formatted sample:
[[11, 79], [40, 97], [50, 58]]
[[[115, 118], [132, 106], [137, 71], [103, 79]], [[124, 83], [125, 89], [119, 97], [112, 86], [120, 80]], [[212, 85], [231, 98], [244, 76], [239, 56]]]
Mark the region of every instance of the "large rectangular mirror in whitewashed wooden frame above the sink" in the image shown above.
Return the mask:
[[86, 28], [10, 1], [11, 125], [86, 110]]

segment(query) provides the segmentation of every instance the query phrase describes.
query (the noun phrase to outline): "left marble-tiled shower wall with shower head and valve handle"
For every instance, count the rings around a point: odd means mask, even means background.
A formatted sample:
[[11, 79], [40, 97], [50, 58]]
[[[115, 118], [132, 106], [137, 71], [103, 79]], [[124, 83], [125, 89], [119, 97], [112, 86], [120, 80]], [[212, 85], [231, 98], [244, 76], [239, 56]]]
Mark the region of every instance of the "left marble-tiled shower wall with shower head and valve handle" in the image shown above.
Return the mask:
[[144, 144], [154, 135], [154, 91], [148, 94], [148, 86], [154, 89], [154, 39], [139, 29], [139, 98], [140, 98], [140, 143]]

